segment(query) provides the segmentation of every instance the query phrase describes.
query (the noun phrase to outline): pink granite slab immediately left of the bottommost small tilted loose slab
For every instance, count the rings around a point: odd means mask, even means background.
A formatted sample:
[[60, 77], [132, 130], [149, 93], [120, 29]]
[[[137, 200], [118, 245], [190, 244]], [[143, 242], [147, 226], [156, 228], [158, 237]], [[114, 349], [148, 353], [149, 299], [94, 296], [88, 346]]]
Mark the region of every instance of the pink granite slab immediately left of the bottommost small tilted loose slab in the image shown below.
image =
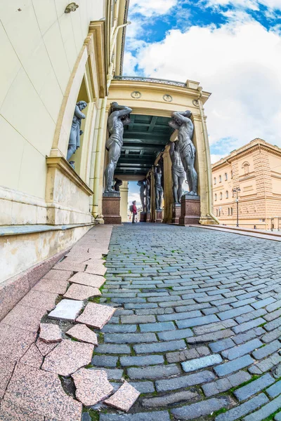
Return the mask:
[[81, 370], [72, 374], [76, 397], [84, 406], [96, 405], [112, 393], [113, 387], [104, 370]]

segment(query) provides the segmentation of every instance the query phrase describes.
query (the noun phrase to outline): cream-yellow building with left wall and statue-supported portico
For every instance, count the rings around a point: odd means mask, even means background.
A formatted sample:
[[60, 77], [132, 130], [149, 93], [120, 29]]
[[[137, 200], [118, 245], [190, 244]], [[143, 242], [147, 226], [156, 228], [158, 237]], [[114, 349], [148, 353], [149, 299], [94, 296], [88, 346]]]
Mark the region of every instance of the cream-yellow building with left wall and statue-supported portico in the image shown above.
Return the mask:
[[[164, 222], [171, 221], [169, 120], [190, 109], [197, 149], [200, 223], [212, 214], [211, 164], [200, 83], [122, 76], [129, 0], [8, 2], [1, 11], [0, 319], [67, 250], [103, 223], [107, 119], [131, 107], [115, 175], [126, 220], [128, 182], [164, 168]], [[80, 147], [67, 161], [74, 109], [84, 101]], [[155, 213], [152, 175], [151, 210]], [[153, 216], [154, 218], [154, 216]], [[152, 220], [153, 220], [152, 218]]]

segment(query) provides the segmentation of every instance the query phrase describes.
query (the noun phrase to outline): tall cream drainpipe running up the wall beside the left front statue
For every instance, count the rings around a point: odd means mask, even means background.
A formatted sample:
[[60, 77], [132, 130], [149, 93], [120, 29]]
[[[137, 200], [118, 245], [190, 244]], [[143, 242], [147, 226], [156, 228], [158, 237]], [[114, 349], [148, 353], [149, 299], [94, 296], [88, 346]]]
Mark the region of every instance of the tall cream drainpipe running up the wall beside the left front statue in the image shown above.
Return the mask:
[[[115, 48], [117, 34], [120, 28], [130, 25], [131, 22], [126, 22], [123, 25], [119, 25], [115, 27], [112, 32], [112, 36], [110, 39], [110, 65], [108, 67], [107, 73], [107, 92], [110, 88], [110, 83], [113, 79], [113, 61], [112, 61], [112, 54]], [[102, 157], [102, 146], [103, 146], [103, 131], [105, 128], [105, 110], [107, 104], [107, 96], [103, 98], [102, 106], [100, 109], [100, 121], [98, 123], [98, 139], [96, 145], [96, 161], [95, 161], [95, 170], [93, 175], [93, 216], [97, 218], [98, 216], [98, 190], [100, 185], [100, 165], [101, 165], [101, 157]], [[102, 215], [100, 215], [102, 216]]]

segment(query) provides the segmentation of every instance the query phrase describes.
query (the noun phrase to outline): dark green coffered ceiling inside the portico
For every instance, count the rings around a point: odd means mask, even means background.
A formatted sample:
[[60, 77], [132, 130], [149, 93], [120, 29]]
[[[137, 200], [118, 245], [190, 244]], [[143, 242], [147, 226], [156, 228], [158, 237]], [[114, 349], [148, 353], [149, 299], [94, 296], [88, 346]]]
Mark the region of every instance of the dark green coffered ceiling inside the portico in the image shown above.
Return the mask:
[[131, 114], [131, 123], [124, 127], [124, 142], [115, 175], [144, 177], [157, 154], [169, 142], [174, 129], [169, 117]]

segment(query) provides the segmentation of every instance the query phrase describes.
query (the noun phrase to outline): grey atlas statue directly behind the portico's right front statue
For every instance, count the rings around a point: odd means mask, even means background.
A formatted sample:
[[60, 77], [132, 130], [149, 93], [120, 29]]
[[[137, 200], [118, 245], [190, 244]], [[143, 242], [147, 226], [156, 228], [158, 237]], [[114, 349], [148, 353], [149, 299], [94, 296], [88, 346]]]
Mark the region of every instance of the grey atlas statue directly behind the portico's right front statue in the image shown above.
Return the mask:
[[183, 194], [183, 180], [185, 171], [181, 162], [181, 155], [178, 148], [178, 141], [170, 142], [171, 156], [171, 177], [173, 180], [173, 196], [174, 203], [181, 203], [181, 195]]

